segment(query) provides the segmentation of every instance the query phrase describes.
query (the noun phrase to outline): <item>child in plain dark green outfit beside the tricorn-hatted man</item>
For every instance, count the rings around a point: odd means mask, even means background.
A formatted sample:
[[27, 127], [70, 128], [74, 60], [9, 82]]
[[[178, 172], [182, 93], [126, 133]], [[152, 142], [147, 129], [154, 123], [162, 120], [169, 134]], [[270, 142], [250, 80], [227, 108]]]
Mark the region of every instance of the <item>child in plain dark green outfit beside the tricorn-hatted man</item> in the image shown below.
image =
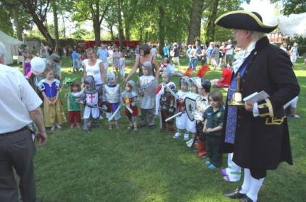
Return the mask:
[[203, 132], [206, 134], [207, 157], [209, 157], [205, 164], [209, 169], [216, 169], [222, 165], [222, 154], [219, 151], [224, 118], [222, 93], [219, 90], [209, 93], [209, 103], [211, 107], [204, 112]]

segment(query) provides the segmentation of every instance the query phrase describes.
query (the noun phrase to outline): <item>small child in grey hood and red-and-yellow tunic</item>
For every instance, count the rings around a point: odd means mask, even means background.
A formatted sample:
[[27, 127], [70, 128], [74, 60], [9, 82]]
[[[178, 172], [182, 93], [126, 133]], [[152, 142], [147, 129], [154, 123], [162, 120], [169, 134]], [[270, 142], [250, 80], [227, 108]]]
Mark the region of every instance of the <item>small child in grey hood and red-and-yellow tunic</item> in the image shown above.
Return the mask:
[[[129, 121], [130, 126], [127, 129], [137, 131], [137, 94], [135, 90], [135, 83], [129, 80], [125, 85], [125, 91], [122, 92], [122, 104], [125, 105], [125, 115]], [[130, 109], [129, 109], [130, 108]], [[130, 112], [132, 110], [132, 112]]]

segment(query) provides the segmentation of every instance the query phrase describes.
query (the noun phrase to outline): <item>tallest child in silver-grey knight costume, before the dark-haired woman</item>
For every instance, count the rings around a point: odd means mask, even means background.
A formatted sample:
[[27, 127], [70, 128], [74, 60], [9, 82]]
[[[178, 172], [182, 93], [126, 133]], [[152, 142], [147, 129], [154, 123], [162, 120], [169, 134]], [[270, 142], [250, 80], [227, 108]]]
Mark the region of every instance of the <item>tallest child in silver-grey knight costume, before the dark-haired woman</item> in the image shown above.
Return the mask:
[[142, 112], [139, 127], [144, 127], [149, 124], [149, 128], [152, 128], [154, 127], [154, 101], [158, 84], [152, 75], [151, 66], [141, 65], [143, 75], [139, 77], [137, 84], [137, 91], [140, 96], [140, 109]]

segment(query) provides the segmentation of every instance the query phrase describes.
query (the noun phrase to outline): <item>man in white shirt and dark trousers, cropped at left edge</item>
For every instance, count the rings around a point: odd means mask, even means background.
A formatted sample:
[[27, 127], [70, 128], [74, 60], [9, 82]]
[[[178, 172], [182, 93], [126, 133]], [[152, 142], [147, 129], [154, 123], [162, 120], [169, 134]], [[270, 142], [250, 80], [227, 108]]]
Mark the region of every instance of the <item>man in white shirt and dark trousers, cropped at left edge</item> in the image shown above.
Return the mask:
[[[40, 109], [42, 103], [22, 73], [4, 64], [4, 45], [0, 43], [0, 201], [36, 201], [33, 170], [35, 134], [28, 124], [38, 128], [36, 137], [46, 143], [46, 129]], [[13, 169], [19, 176], [19, 191]]]

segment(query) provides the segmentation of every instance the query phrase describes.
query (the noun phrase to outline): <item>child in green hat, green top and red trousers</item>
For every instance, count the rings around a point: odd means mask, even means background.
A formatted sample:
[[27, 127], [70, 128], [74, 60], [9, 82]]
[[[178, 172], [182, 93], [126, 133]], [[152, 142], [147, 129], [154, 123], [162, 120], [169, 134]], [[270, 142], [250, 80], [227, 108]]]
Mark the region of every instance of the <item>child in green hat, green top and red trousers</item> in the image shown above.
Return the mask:
[[80, 89], [80, 84], [73, 83], [70, 86], [70, 91], [66, 92], [65, 98], [67, 99], [68, 107], [68, 122], [70, 128], [80, 127], [80, 103], [76, 102], [79, 100], [82, 91]]

